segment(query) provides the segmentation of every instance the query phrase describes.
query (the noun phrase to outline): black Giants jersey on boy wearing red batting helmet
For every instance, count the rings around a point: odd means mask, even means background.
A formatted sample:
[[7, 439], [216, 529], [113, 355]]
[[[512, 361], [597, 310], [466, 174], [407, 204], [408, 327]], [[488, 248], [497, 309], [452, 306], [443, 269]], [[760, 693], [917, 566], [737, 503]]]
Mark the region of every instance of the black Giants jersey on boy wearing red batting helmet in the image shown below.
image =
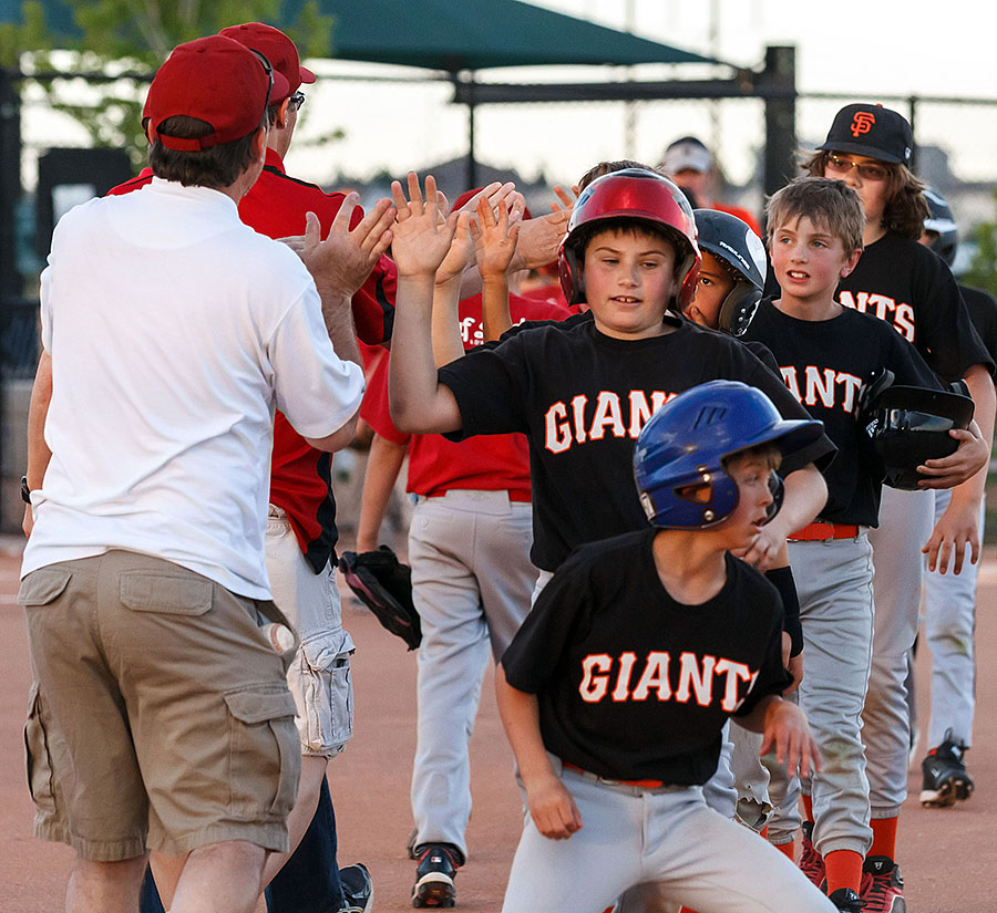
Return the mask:
[[[592, 320], [539, 325], [440, 369], [461, 411], [462, 439], [523, 432], [533, 483], [533, 563], [556, 570], [576, 546], [647, 528], [634, 444], [666, 400], [706, 381], [759, 387], [787, 418], [806, 413], [741, 343], [683, 321], [661, 336], [618, 340]], [[824, 461], [822, 438], [785, 471]]]

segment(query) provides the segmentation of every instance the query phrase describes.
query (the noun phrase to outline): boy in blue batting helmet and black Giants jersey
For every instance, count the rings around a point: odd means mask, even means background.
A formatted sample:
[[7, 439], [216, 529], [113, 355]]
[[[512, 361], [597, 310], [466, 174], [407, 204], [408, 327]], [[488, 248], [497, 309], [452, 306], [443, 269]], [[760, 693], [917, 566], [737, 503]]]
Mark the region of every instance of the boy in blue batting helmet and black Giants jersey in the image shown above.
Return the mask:
[[802, 712], [779, 697], [779, 595], [731, 551], [775, 512], [780, 457], [821, 433], [726, 381], [645, 426], [634, 468], [655, 528], [576, 550], [498, 670], [530, 809], [504, 913], [602, 910], [647, 882], [698, 910], [833, 911], [701, 790], [732, 714], [791, 768], [818, 766]]

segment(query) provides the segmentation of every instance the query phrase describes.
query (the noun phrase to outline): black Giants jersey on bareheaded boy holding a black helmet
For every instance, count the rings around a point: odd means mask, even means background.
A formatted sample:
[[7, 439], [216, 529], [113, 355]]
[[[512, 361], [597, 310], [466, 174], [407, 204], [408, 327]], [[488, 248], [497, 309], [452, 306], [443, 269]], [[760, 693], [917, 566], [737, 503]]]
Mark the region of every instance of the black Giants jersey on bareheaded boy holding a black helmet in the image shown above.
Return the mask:
[[772, 350], [790, 392], [824, 423], [837, 447], [824, 470], [828, 504], [821, 519], [877, 526], [882, 477], [855, 421], [859, 390], [881, 367], [896, 375], [896, 384], [937, 387], [924, 359], [882, 320], [847, 308], [831, 320], [798, 320], [765, 300], [746, 336]]

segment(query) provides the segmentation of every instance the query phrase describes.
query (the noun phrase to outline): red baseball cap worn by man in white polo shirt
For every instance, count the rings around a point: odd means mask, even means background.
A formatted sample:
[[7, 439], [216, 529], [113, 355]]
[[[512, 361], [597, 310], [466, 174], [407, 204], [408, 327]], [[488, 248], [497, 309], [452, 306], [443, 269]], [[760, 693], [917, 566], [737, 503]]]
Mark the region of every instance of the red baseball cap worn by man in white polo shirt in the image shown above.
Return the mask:
[[[260, 54], [222, 35], [179, 44], [158, 69], [142, 111], [151, 135], [169, 149], [198, 152], [233, 143], [263, 121], [270, 95], [287, 95], [287, 80]], [[168, 117], [196, 117], [213, 127], [196, 138], [160, 132]]]

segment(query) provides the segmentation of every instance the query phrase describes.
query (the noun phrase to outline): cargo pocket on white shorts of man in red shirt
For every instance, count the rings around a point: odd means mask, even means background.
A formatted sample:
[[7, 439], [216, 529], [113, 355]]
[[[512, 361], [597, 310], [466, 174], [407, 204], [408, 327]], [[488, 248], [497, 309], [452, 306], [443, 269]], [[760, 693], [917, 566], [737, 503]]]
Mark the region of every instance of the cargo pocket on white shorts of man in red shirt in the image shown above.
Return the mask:
[[332, 757], [353, 736], [352, 652], [353, 641], [346, 631], [301, 644], [308, 754]]

